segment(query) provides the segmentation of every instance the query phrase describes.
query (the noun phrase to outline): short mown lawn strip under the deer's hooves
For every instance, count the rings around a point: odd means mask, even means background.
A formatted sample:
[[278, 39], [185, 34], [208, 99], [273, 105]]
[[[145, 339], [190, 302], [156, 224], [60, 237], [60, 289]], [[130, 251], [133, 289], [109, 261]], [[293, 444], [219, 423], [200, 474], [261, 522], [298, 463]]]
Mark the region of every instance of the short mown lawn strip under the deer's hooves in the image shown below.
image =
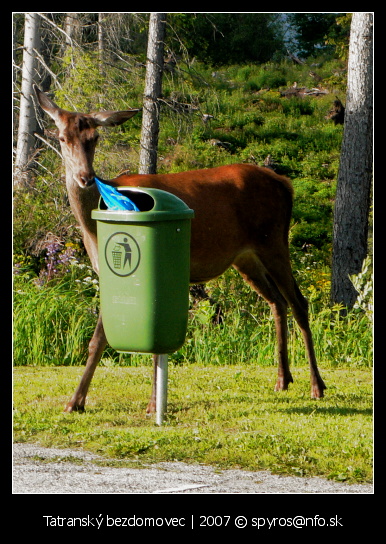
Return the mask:
[[322, 369], [326, 397], [309, 397], [309, 373], [274, 393], [276, 369], [255, 365], [169, 365], [162, 427], [145, 416], [151, 368], [101, 367], [86, 412], [62, 412], [79, 367], [17, 367], [14, 439], [83, 448], [106, 463], [203, 463], [220, 469], [270, 470], [349, 483], [372, 479], [372, 375], [369, 369]]

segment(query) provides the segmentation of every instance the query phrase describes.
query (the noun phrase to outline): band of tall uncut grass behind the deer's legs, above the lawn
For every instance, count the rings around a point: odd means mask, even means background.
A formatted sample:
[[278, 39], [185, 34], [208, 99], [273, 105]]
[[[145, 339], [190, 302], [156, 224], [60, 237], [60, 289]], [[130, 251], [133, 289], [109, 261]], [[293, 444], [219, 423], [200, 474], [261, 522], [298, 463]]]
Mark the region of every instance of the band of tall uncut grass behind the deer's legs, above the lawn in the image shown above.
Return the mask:
[[[86, 277], [87, 278], [87, 277]], [[307, 289], [306, 289], [307, 291]], [[201, 365], [276, 365], [275, 326], [268, 305], [233, 270], [209, 284], [223, 312], [223, 322], [213, 323], [216, 308], [208, 301], [192, 300], [184, 345], [170, 356], [175, 363]], [[310, 324], [321, 368], [372, 366], [372, 328], [362, 310], [347, 316], [340, 307], [329, 308], [317, 300], [310, 304]], [[43, 286], [15, 281], [14, 361], [16, 365], [79, 365], [95, 327], [98, 296], [94, 284], [68, 274]], [[289, 355], [292, 365], [306, 364], [303, 340], [291, 312]], [[106, 364], [150, 363], [149, 357], [116, 354], [108, 348]]]

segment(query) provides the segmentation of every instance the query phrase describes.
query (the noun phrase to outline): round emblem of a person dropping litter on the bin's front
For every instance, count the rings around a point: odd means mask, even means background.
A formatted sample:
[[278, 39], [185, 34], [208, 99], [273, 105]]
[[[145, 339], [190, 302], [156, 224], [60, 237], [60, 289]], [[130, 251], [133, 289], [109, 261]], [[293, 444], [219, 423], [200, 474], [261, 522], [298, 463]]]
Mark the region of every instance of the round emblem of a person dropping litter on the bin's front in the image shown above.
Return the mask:
[[115, 232], [106, 242], [105, 259], [111, 272], [117, 276], [130, 276], [141, 260], [139, 245], [127, 232]]

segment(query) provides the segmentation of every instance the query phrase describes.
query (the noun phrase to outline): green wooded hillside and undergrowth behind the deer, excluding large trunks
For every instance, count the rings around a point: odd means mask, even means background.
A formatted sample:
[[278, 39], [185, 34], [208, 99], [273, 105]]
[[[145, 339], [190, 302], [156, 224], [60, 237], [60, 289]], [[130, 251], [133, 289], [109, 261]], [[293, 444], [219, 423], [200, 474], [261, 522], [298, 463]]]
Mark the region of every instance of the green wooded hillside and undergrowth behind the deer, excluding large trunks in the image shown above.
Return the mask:
[[[24, 15], [14, 14], [14, 141], [17, 142]], [[238, 162], [291, 178], [296, 279], [310, 303], [320, 367], [372, 366], [372, 239], [358, 293], [342, 314], [332, 304], [332, 224], [343, 136], [334, 101], [345, 103], [351, 14], [168, 14], [158, 172]], [[39, 86], [83, 112], [141, 107], [148, 14], [47, 13], [40, 21]], [[95, 327], [98, 278], [71, 213], [50, 121], [36, 106], [36, 138], [14, 196], [14, 364], [80, 365]], [[141, 116], [101, 131], [102, 178], [138, 170]], [[370, 216], [371, 221], [371, 216]], [[233, 270], [191, 297], [184, 346], [171, 364], [275, 364], [269, 308]], [[221, 324], [218, 324], [219, 310]], [[293, 365], [303, 345], [290, 316]], [[150, 364], [107, 348], [102, 366]]]

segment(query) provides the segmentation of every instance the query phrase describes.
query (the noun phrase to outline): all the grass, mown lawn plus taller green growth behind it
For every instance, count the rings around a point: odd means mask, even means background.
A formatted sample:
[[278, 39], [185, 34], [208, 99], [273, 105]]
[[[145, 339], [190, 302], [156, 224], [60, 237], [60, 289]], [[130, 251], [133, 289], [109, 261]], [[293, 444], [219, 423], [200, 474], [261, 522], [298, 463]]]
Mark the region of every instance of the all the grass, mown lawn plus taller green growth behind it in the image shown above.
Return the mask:
[[83, 373], [79, 365], [96, 320], [97, 285], [89, 268], [76, 259], [69, 273], [44, 284], [31, 281], [28, 268], [19, 270], [14, 285], [15, 441], [81, 447], [119, 466], [180, 460], [220, 469], [371, 481], [370, 321], [359, 309], [341, 318], [339, 308], [329, 308], [324, 300], [329, 275], [312, 270], [310, 260], [302, 265], [298, 275], [310, 300], [326, 397], [310, 400], [304, 346], [291, 314], [295, 384], [286, 393], [273, 392], [272, 316], [229, 271], [209, 285], [224, 312], [223, 324], [212, 324], [207, 301], [196, 304], [186, 342], [170, 356], [162, 428], [145, 417], [150, 357], [117, 354], [111, 348], [92, 382], [86, 413], [62, 412]]

